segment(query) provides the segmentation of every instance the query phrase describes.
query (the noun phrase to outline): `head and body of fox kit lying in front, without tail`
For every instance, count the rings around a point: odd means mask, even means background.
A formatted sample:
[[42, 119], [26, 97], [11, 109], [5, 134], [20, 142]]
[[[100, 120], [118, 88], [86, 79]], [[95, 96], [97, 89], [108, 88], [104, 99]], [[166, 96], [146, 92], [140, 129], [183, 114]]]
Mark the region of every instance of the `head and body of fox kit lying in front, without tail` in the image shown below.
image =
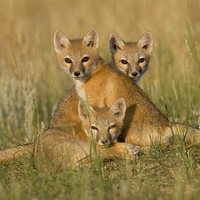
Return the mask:
[[[121, 133], [126, 105], [119, 99], [110, 108], [91, 107], [79, 101], [78, 113], [81, 120], [71, 130], [65, 132], [59, 128], [48, 129], [35, 148], [35, 165], [41, 169], [52, 165], [53, 168], [76, 167], [88, 158], [100, 155], [108, 157], [132, 157], [140, 153], [140, 148], [132, 144], [115, 142]], [[90, 140], [80, 140], [78, 132], [87, 135]], [[95, 148], [91, 145], [95, 142]], [[108, 148], [103, 148], [108, 147]], [[51, 170], [51, 169], [50, 169]]]

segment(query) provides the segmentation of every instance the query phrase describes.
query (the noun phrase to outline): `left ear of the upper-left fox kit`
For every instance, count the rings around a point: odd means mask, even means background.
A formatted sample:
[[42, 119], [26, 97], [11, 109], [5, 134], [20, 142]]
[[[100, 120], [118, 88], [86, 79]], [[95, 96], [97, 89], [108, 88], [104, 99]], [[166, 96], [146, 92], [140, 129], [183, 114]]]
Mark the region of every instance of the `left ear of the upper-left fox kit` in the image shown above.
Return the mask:
[[54, 34], [54, 48], [55, 51], [61, 51], [70, 43], [69, 39], [60, 31], [56, 31]]

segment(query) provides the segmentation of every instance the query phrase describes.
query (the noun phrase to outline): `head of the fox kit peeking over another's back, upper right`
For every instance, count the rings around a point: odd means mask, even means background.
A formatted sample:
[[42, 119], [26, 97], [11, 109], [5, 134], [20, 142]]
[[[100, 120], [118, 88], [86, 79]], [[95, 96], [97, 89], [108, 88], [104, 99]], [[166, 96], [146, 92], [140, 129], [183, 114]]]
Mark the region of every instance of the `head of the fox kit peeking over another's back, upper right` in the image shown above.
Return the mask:
[[148, 69], [153, 38], [146, 32], [138, 42], [124, 42], [116, 33], [110, 35], [111, 64], [137, 83]]

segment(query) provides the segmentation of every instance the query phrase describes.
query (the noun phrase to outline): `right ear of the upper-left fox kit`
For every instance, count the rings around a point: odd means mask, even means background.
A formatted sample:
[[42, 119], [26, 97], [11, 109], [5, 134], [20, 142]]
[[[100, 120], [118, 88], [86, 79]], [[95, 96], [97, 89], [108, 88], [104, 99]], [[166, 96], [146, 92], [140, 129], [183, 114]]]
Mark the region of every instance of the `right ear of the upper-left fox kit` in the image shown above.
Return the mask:
[[86, 36], [83, 38], [83, 43], [86, 46], [91, 46], [98, 48], [99, 47], [99, 35], [95, 29], [89, 31]]

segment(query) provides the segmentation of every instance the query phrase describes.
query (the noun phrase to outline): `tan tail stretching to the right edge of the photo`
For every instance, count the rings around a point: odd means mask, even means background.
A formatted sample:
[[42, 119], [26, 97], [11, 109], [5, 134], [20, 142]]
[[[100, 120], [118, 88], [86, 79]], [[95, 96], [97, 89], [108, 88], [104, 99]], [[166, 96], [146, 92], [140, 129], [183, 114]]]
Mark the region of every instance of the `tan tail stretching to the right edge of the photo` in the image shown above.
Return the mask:
[[172, 125], [172, 132], [174, 135], [183, 136], [186, 144], [200, 146], [200, 129], [186, 126], [181, 123], [174, 123]]

